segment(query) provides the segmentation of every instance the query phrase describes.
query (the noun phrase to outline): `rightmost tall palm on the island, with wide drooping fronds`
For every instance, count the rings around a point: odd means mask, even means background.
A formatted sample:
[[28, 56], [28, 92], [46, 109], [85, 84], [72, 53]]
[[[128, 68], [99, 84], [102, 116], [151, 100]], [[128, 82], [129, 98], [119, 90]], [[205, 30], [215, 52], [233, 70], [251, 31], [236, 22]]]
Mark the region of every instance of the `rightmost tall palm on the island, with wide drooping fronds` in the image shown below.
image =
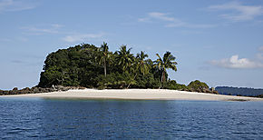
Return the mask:
[[177, 71], [177, 62], [175, 62], [175, 56], [171, 55], [170, 52], [166, 52], [162, 59], [159, 54], [156, 54], [158, 56], [158, 59], [154, 61], [153, 66], [158, 66], [159, 70], [161, 70], [161, 83], [163, 84], [165, 81], [165, 73], [166, 69], [172, 69], [175, 72]]

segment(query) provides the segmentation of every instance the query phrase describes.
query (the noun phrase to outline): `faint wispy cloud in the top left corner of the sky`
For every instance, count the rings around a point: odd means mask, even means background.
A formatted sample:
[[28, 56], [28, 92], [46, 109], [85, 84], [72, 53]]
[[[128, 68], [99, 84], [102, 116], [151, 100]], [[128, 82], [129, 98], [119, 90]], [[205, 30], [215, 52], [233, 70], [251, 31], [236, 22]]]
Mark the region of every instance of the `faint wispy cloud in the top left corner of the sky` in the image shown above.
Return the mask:
[[36, 5], [28, 1], [2, 0], [0, 1], [0, 13], [34, 9]]

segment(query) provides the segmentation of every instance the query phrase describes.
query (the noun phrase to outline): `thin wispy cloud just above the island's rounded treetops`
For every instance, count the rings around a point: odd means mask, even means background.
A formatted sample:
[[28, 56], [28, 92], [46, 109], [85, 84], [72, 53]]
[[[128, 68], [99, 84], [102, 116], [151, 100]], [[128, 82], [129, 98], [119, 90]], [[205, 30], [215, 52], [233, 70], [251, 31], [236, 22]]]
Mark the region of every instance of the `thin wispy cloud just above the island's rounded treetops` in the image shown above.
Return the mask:
[[66, 42], [84, 42], [90, 39], [94, 39], [94, 38], [101, 38], [103, 35], [105, 35], [104, 33], [99, 33], [99, 34], [79, 34], [79, 35], [67, 35], [65, 37], [63, 37], [63, 41]]

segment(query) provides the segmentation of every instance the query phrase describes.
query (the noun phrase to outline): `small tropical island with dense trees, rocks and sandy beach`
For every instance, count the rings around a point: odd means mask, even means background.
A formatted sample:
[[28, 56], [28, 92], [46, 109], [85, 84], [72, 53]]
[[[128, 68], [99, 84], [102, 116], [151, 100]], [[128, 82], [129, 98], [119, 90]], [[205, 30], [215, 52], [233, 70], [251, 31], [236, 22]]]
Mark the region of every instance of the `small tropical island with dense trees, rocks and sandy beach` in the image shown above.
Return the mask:
[[[111, 52], [109, 46], [104, 42], [100, 47], [81, 44], [67, 49], [59, 49], [47, 55], [38, 85], [21, 90], [18, 90], [17, 87], [10, 91], [0, 90], [0, 95], [258, 100], [219, 95], [215, 88], [209, 88], [209, 85], [199, 80], [192, 81], [189, 85], [178, 84], [176, 80], [170, 79], [167, 73], [168, 69], [176, 72], [178, 65], [176, 57], [170, 52], [165, 52], [164, 55], [156, 54], [156, 60], [151, 60], [145, 52], [141, 51], [134, 55], [131, 50], [132, 48], [128, 48], [127, 45], [122, 45], [120, 50]], [[76, 93], [81, 95], [76, 95]], [[85, 93], [86, 95], [84, 95]], [[100, 95], [100, 93], [104, 94]]]

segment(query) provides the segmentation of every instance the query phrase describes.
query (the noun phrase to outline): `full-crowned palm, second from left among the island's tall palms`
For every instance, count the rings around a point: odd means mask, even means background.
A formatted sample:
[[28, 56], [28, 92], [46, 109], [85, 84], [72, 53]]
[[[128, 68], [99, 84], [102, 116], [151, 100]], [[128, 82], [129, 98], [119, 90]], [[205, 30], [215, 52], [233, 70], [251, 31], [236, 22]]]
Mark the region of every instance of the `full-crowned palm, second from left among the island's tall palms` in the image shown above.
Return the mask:
[[122, 45], [120, 51], [117, 52], [118, 65], [121, 65], [123, 72], [127, 69], [131, 69], [132, 63], [134, 62], [134, 56], [131, 54], [131, 50], [132, 48], [127, 50], [126, 45]]

